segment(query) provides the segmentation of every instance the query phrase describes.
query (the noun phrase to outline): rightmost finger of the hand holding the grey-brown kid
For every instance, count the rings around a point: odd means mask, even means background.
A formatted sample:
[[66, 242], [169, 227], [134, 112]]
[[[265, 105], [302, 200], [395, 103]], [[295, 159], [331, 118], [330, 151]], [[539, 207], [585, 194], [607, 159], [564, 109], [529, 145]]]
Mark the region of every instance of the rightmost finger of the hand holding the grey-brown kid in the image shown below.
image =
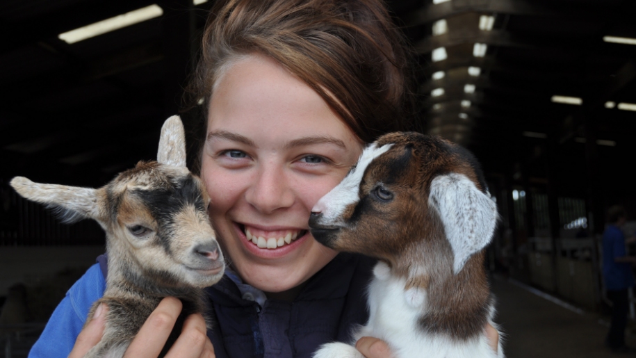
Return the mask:
[[215, 358], [214, 348], [206, 332], [207, 327], [201, 314], [188, 316], [181, 335], [165, 358]]

